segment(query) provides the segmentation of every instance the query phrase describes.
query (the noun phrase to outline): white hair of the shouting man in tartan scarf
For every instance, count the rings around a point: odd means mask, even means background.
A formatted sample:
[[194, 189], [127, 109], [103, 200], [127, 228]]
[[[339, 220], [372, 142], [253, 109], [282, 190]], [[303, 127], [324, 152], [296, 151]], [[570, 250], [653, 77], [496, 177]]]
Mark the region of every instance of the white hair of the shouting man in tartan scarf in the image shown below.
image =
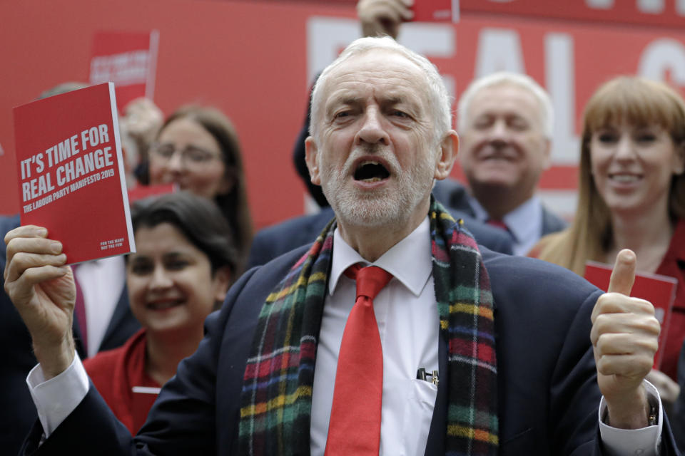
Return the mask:
[[358, 38], [357, 40], [352, 41], [352, 43], [340, 53], [340, 56], [324, 69], [312, 90], [309, 134], [314, 138], [318, 138], [321, 125], [321, 108], [324, 103], [324, 100], [322, 99], [324, 93], [323, 88], [328, 81], [330, 73], [350, 58], [375, 50], [398, 53], [400, 56], [403, 56], [407, 58], [408, 61], [414, 63], [419, 67], [422, 73], [424, 73], [428, 89], [428, 105], [430, 106], [433, 120], [435, 121], [435, 138], [436, 140], [441, 139], [442, 135], [452, 128], [452, 113], [450, 112], [450, 95], [447, 93], [447, 88], [445, 88], [445, 83], [442, 82], [440, 73], [438, 73], [435, 65], [430, 63], [427, 58], [414, 51], [410, 51], [389, 36]]

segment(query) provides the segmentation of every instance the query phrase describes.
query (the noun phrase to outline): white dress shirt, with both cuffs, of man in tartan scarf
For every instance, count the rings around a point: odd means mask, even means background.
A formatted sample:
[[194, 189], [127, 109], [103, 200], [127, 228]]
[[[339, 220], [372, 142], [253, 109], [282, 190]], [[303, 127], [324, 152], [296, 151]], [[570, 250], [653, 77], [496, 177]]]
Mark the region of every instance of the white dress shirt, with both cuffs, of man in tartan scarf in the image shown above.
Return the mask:
[[[312, 395], [310, 436], [313, 456], [323, 455], [325, 450], [340, 341], [355, 302], [355, 282], [342, 273], [357, 262], [368, 264], [337, 230], [333, 245], [329, 296], [323, 310]], [[416, 371], [417, 368], [438, 370], [440, 331], [430, 252], [426, 218], [414, 232], [373, 263], [394, 276], [374, 299], [383, 350], [381, 456], [420, 456], [425, 453], [437, 387], [425, 380], [417, 380]], [[78, 356], [66, 371], [48, 381], [44, 381], [40, 366], [36, 366], [26, 383], [31, 388], [46, 437], [88, 392], [88, 377]], [[645, 385], [651, 400], [660, 404], [656, 388], [646, 381]], [[600, 417], [605, 410], [602, 400]], [[604, 448], [610, 456], [658, 455], [662, 422], [659, 406], [658, 425], [622, 430], [600, 423]]]

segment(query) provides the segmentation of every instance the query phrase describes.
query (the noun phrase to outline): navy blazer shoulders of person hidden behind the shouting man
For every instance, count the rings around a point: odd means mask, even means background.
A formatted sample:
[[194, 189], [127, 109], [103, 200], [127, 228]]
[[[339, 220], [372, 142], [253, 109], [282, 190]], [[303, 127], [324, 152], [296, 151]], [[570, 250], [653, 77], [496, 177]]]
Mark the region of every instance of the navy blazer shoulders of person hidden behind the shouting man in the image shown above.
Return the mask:
[[[436, 182], [436, 189], [440, 188], [441, 182], [443, 181]], [[434, 195], [438, 201], [445, 204], [437, 197], [435, 189]], [[512, 238], [501, 229], [478, 222], [470, 214], [465, 214], [458, 209], [446, 208], [452, 217], [464, 220], [465, 227], [473, 234], [478, 244], [494, 252], [512, 254]], [[316, 214], [295, 217], [261, 229], [253, 238], [247, 269], [267, 264], [285, 252], [310, 244], [333, 217], [335, 217], [333, 209], [325, 206]]]

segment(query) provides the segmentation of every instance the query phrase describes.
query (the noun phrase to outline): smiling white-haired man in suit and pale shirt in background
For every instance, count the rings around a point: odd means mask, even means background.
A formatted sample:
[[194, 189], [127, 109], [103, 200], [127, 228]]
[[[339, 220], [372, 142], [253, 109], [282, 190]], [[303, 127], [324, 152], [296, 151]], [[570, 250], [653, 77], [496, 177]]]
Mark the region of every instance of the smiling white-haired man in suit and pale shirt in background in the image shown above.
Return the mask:
[[470, 192], [453, 192], [448, 204], [499, 225], [524, 255], [566, 222], [537, 195], [552, 148], [552, 101], [522, 74], [500, 72], [473, 81], [459, 101], [461, 165]]

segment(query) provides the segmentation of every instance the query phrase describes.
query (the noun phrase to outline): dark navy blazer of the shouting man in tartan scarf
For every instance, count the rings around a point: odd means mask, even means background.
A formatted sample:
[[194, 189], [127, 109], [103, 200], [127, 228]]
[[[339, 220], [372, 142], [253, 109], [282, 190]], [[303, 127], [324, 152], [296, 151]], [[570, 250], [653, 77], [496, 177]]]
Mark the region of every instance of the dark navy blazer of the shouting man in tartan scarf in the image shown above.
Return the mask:
[[[132, 440], [94, 388], [41, 447], [37, 424], [24, 454], [235, 455], [240, 390], [260, 304], [307, 247], [251, 269], [210, 315], [198, 351], [182, 361]], [[601, 455], [599, 388], [589, 342], [601, 292], [566, 269], [483, 250], [495, 303], [499, 455]], [[529, 284], [534, 281], [536, 286]], [[447, 372], [447, 342], [440, 370]], [[444, 374], [443, 374], [444, 375]], [[427, 456], [444, 455], [445, 398], [438, 387]], [[679, 454], [664, 423], [661, 456]]]

